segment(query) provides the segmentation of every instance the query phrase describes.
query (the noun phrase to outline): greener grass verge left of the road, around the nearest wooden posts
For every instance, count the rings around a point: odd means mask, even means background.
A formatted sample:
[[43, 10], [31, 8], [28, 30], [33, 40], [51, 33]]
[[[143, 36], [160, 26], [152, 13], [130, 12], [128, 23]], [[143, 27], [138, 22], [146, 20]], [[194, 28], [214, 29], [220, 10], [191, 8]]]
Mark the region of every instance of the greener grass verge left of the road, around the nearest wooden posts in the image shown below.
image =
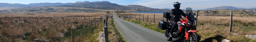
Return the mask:
[[[109, 19], [108, 21], [108, 38], [109, 42], [126, 42], [119, 32], [118, 28], [115, 25], [113, 19]], [[84, 35], [84, 27], [74, 29], [74, 37], [75, 41], [78, 42], [101, 42], [99, 35], [103, 32], [103, 21], [97, 25], [96, 29], [93, 27], [93, 32], [91, 32], [91, 25], [86, 26], [86, 33]], [[65, 38], [62, 38], [60, 42], [70, 42], [71, 41], [71, 31], [67, 31], [65, 33]], [[85, 39], [85, 40], [83, 40]], [[66, 40], [66, 41], [65, 41]]]

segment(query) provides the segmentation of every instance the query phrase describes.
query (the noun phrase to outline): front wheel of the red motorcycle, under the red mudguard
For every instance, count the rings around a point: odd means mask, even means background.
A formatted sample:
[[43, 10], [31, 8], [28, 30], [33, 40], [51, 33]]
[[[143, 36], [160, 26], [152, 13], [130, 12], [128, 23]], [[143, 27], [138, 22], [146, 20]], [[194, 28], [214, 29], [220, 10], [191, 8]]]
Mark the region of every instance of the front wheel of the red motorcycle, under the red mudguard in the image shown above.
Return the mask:
[[184, 42], [199, 42], [199, 37], [196, 33], [189, 33], [188, 40], [184, 38]]

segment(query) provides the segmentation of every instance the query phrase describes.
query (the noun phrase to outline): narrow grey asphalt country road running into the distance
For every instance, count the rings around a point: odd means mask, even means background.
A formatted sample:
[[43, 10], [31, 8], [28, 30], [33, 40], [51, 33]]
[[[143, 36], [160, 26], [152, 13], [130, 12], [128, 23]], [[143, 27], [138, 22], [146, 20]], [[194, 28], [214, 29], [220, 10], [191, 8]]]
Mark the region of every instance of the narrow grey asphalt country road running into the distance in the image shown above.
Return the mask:
[[[163, 33], [156, 32], [135, 23], [122, 20], [118, 18], [115, 13], [113, 13], [113, 18], [119, 31], [128, 42], [170, 42], [165, 39]], [[183, 42], [181, 40], [174, 39], [173, 41]]]

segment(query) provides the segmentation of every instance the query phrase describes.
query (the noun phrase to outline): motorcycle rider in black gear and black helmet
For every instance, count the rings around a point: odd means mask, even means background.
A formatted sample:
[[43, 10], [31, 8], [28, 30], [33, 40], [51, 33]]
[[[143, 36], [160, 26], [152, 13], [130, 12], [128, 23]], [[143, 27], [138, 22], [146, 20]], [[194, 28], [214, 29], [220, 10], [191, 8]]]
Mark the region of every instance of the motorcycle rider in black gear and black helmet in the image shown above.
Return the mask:
[[[181, 9], [179, 9], [180, 8], [180, 4], [181, 3], [179, 3], [179, 2], [174, 2], [174, 4], [173, 4], [174, 9], [170, 10], [170, 17], [172, 17], [170, 19], [170, 24], [172, 24], [172, 28], [170, 30], [171, 31], [170, 34], [173, 32], [173, 30], [175, 28], [177, 28], [177, 22], [180, 21], [179, 18], [181, 18], [180, 15], [186, 17], [186, 14]], [[173, 37], [172, 34], [170, 36]]]

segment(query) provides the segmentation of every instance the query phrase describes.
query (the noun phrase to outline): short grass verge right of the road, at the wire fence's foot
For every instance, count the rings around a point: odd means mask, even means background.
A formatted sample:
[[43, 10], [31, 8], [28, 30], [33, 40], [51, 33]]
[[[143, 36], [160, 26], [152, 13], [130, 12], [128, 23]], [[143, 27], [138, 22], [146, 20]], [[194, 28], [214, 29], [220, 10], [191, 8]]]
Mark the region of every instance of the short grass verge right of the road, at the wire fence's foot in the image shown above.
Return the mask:
[[[158, 29], [158, 24], [146, 23], [142, 21], [136, 21], [133, 19], [123, 19], [144, 26], [148, 29], [164, 33], [164, 30]], [[221, 42], [223, 39], [228, 39], [231, 42], [256, 42], [255, 39], [247, 38], [244, 35], [233, 35], [226, 31], [226, 27], [216, 25], [198, 25], [197, 34], [201, 38], [201, 42]], [[207, 28], [207, 29], [202, 29]]]

